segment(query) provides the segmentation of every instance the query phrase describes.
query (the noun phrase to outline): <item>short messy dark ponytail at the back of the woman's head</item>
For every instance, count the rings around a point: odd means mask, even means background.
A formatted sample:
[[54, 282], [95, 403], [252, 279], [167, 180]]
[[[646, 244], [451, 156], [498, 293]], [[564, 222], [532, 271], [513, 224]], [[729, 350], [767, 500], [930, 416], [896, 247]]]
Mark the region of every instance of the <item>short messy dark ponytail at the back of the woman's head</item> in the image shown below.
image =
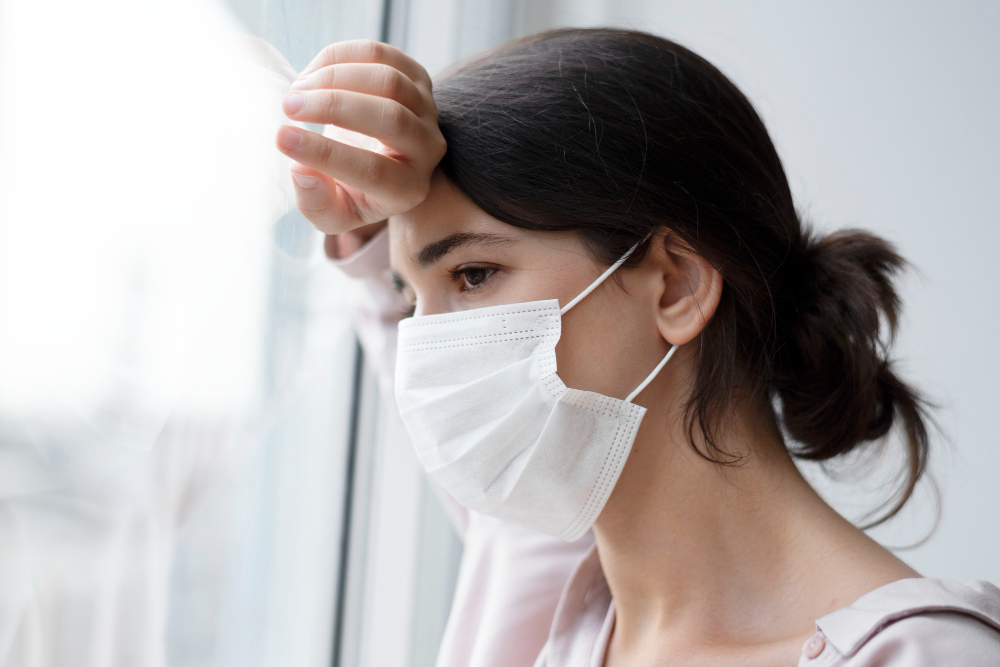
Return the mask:
[[893, 278], [908, 263], [891, 243], [859, 229], [823, 237], [804, 230], [802, 254], [795, 321], [774, 364], [782, 421], [798, 443], [792, 453], [811, 461], [854, 451], [901, 424], [906, 469], [877, 525], [900, 510], [927, 466], [933, 404], [889, 358], [901, 310]]

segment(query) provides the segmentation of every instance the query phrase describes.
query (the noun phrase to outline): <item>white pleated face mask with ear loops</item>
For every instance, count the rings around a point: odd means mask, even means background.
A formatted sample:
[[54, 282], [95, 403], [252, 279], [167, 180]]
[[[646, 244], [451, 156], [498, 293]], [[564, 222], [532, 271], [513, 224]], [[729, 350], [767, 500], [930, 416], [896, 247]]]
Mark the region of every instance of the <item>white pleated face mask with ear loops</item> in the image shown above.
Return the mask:
[[561, 310], [547, 299], [399, 323], [400, 415], [420, 462], [458, 502], [564, 540], [594, 523], [646, 413], [632, 399], [677, 346], [624, 401], [566, 387], [555, 347], [562, 315], [638, 245]]

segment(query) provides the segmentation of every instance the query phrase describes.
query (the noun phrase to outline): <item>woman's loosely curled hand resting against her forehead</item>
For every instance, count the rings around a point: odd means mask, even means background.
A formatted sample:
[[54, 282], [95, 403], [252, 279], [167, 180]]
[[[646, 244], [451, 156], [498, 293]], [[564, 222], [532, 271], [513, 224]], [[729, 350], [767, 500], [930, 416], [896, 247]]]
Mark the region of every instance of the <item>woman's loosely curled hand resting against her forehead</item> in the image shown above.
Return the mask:
[[370, 40], [332, 44], [282, 104], [293, 120], [330, 124], [325, 136], [289, 125], [277, 136], [279, 150], [296, 162], [296, 205], [320, 231], [380, 223], [427, 197], [447, 144], [430, 76], [399, 49]]

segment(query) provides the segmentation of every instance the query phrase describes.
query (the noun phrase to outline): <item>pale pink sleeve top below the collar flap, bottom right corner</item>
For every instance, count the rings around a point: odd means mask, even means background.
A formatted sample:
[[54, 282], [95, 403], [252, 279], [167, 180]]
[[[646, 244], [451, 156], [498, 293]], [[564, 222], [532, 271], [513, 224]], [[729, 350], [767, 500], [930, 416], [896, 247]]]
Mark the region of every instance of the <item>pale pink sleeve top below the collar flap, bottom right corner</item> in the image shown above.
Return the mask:
[[1000, 665], [1000, 628], [955, 611], [915, 614], [883, 628], [844, 664], [850, 667], [997, 667]]

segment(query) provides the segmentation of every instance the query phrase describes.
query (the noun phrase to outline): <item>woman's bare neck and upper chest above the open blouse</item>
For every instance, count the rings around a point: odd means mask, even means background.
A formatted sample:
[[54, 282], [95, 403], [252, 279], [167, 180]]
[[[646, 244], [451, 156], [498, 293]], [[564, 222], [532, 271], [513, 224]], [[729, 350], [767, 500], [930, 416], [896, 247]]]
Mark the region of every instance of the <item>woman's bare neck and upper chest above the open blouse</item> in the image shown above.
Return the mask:
[[647, 411], [594, 526], [616, 640], [781, 641], [811, 634], [816, 618], [901, 578], [882, 568], [845, 581], [845, 565], [901, 563], [816, 494], [770, 415], [720, 433], [719, 448], [744, 457], [720, 466], [692, 449], [679, 415], [656, 412]]

